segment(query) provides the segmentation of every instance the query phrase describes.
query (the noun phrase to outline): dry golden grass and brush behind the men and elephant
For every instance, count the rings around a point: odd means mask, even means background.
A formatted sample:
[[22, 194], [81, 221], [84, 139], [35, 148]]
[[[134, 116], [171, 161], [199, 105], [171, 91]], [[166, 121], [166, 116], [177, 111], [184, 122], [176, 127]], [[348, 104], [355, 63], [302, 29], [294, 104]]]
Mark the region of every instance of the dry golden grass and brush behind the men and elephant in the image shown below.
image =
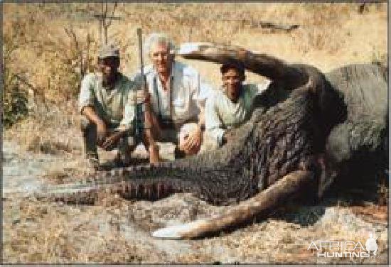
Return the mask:
[[[109, 10], [112, 7], [109, 4]], [[99, 36], [98, 21], [92, 15], [100, 13], [100, 4], [4, 4], [4, 11], [4, 51], [17, 47], [10, 53], [6, 71], [21, 75], [32, 85], [19, 82], [22, 91], [28, 92], [29, 107], [33, 107], [23, 126], [16, 126], [16, 132], [26, 134], [26, 140], [19, 139], [19, 143], [43, 153], [73, 152], [71, 143], [80, 140], [74, 126], [74, 100], [82, 75], [95, 68]], [[139, 65], [139, 26], [144, 36], [165, 31], [177, 44], [232, 43], [288, 61], [308, 62], [321, 70], [348, 62], [382, 60], [387, 55], [387, 4], [368, 4], [368, 10], [359, 14], [355, 3], [119, 3], [114, 16], [121, 19], [112, 21], [109, 39], [119, 44], [120, 68], [127, 75]], [[261, 21], [299, 24], [299, 28], [277, 31], [262, 28]], [[217, 65], [186, 62], [213, 86], [220, 86]], [[247, 77], [249, 82], [262, 80], [252, 74]], [[48, 111], [42, 111], [42, 105]], [[75, 152], [79, 151], [76, 148]]]

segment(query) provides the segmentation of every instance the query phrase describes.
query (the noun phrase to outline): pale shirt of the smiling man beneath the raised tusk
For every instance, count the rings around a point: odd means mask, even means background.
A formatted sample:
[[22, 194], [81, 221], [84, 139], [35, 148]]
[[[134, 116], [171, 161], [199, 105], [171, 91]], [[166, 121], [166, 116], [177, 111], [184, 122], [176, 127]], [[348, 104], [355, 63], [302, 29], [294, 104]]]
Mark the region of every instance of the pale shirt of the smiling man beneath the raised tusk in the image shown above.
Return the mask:
[[243, 85], [242, 93], [236, 103], [232, 102], [221, 88], [211, 95], [205, 106], [205, 129], [218, 146], [223, 144], [225, 130], [240, 126], [250, 119], [257, 94], [261, 94], [269, 85]]

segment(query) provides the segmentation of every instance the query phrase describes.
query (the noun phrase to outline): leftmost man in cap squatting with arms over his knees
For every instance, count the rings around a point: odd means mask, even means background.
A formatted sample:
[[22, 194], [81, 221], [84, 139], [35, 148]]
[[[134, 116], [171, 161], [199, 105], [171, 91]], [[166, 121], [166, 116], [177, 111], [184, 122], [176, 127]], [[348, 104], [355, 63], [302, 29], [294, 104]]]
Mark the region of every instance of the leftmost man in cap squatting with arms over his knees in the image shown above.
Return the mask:
[[94, 168], [99, 167], [97, 145], [106, 151], [118, 148], [117, 160], [128, 164], [134, 149], [132, 133], [136, 84], [118, 71], [119, 49], [102, 45], [99, 72], [85, 75], [79, 96], [84, 151]]

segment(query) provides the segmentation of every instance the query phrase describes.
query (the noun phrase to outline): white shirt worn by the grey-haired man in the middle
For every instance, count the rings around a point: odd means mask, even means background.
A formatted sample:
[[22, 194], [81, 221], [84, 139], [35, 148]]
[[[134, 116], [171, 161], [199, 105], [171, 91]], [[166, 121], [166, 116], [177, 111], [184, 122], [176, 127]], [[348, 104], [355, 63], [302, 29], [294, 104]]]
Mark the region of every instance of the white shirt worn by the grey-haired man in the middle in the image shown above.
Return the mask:
[[[173, 62], [171, 68], [171, 89], [165, 91], [159, 74], [153, 65], [144, 68], [146, 84], [151, 95], [151, 109], [162, 118], [173, 119], [179, 126], [186, 121], [198, 121], [200, 110], [205, 107], [205, 101], [211, 91], [210, 85], [201, 80], [199, 73], [182, 62]], [[136, 82], [141, 82], [141, 76], [137, 73]], [[170, 114], [170, 97], [172, 96], [172, 109]]]

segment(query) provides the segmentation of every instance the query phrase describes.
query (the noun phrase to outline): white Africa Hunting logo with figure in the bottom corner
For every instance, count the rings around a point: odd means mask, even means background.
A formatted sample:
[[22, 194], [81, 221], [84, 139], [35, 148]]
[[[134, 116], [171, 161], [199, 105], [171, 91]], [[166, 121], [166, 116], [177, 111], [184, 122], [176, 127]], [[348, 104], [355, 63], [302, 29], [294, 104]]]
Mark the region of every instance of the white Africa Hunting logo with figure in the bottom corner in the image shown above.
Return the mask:
[[307, 250], [323, 258], [370, 258], [376, 256], [378, 237], [369, 234], [365, 246], [360, 241], [311, 241]]

